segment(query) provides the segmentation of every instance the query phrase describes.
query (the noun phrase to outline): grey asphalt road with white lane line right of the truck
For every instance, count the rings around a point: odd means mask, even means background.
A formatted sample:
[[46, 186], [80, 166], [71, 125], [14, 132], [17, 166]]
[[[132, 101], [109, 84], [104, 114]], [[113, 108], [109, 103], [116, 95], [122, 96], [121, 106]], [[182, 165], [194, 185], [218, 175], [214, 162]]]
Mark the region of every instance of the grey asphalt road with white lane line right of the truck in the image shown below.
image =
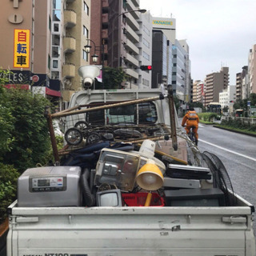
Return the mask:
[[234, 192], [256, 208], [256, 138], [204, 124], [199, 124], [198, 134], [199, 150], [216, 154], [222, 160]]

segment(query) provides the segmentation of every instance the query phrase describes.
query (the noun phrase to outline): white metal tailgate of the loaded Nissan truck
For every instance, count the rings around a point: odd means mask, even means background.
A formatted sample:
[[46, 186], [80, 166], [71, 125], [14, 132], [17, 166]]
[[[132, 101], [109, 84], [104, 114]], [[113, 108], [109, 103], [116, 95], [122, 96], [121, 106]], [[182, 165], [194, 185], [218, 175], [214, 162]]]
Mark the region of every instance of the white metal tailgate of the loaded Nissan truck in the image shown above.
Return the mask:
[[18, 207], [14, 202], [7, 255], [254, 255], [253, 210], [240, 197], [238, 206], [224, 207]]

